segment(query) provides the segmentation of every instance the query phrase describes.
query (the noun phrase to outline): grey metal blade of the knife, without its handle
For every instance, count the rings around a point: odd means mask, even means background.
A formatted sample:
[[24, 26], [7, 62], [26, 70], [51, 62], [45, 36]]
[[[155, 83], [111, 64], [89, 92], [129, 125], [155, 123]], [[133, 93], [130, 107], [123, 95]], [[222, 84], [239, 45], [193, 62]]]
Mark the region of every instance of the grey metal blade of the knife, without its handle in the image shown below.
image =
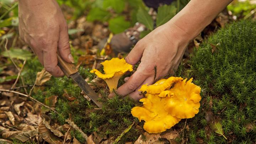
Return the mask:
[[99, 98], [98, 95], [94, 90], [92, 90], [90, 85], [87, 84], [87, 82], [82, 78], [82, 76], [78, 72], [70, 75], [70, 78], [72, 78], [76, 82], [76, 84], [78, 84], [82, 91], [84, 91], [84, 93], [88, 95], [99, 108], [102, 108], [102, 104], [97, 101]]

